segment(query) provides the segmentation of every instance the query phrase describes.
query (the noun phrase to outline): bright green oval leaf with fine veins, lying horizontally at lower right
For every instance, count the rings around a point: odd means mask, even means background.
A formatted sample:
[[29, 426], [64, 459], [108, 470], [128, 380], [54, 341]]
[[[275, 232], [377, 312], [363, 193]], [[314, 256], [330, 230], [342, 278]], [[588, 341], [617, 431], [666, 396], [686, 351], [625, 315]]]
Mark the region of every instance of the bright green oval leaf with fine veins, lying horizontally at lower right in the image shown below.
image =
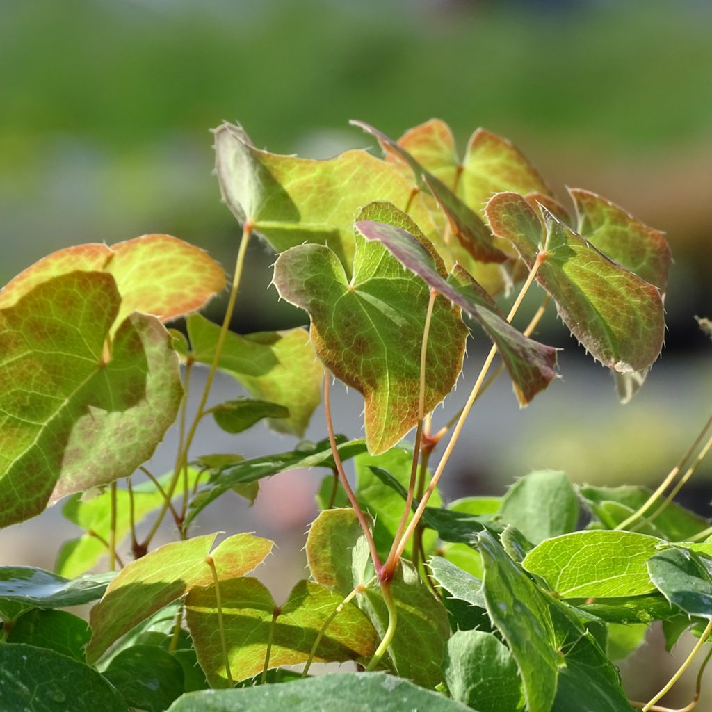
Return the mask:
[[574, 532], [543, 541], [523, 566], [563, 598], [639, 596], [655, 590], [646, 562], [660, 543], [634, 532]]

